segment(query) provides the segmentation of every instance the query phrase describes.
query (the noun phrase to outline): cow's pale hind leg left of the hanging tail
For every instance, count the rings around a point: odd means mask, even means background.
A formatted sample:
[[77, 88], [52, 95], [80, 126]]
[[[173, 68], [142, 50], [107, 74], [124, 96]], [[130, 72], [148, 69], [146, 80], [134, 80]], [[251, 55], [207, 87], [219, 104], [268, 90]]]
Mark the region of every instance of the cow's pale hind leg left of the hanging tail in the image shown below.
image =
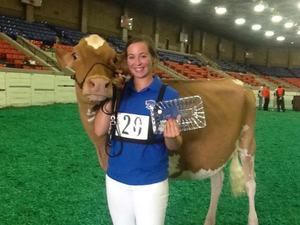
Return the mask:
[[206, 215], [204, 225], [214, 225], [216, 223], [216, 212], [217, 212], [219, 197], [222, 192], [223, 180], [224, 180], [223, 170], [220, 170], [218, 173], [216, 173], [210, 178], [211, 199], [210, 199], [209, 210]]

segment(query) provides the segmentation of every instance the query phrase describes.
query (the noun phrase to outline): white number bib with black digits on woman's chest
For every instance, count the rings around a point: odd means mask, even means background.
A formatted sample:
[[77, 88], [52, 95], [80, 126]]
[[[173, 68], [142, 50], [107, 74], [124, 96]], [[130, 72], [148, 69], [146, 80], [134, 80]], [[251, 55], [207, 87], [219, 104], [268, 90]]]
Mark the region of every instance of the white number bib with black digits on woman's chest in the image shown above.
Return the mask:
[[135, 140], [147, 140], [149, 132], [149, 116], [132, 113], [118, 113], [118, 129], [116, 136]]

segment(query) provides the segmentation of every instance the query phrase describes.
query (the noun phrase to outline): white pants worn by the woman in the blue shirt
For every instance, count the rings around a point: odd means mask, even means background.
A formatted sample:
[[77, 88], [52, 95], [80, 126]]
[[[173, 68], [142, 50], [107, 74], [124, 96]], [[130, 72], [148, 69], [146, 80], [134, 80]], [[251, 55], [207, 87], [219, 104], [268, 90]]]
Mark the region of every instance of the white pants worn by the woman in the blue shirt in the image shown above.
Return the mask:
[[114, 225], [164, 224], [168, 179], [150, 185], [127, 185], [106, 175], [106, 194]]

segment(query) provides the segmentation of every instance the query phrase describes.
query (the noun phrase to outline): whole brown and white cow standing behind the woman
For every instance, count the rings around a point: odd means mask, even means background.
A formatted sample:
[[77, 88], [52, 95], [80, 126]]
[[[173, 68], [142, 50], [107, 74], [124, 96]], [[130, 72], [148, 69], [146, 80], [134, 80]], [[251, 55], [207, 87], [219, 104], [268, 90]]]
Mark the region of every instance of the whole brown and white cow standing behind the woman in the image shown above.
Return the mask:
[[[114, 71], [122, 61], [107, 42], [97, 35], [84, 37], [72, 53], [56, 50], [56, 57], [63, 66], [76, 72], [76, 95], [83, 126], [94, 143], [101, 167], [106, 170], [108, 156], [105, 138], [94, 133], [88, 113], [98, 101], [112, 97], [112, 86], [120, 85]], [[181, 97], [200, 95], [206, 115], [206, 127], [183, 132], [181, 148], [169, 155], [170, 179], [201, 180], [211, 178], [211, 203], [205, 225], [215, 224], [217, 204], [222, 191], [222, 168], [232, 157], [230, 175], [233, 193], [240, 194], [244, 186], [249, 198], [248, 224], [257, 225], [254, 196], [255, 96], [245, 90], [243, 83], [232, 79], [217, 80], [165, 80], [164, 83], [178, 90]], [[243, 168], [238, 159], [241, 157]], [[245, 177], [243, 177], [243, 172]], [[235, 182], [237, 181], [237, 182]], [[241, 182], [242, 181], [242, 182]], [[234, 184], [240, 184], [234, 186]]]

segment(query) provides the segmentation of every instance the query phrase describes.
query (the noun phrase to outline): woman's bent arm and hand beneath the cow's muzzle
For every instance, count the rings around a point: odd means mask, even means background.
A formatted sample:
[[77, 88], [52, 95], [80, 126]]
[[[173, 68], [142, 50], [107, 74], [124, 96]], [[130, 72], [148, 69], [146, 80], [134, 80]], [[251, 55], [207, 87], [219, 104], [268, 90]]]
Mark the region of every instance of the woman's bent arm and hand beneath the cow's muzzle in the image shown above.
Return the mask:
[[[103, 106], [106, 113], [111, 112], [111, 101]], [[97, 136], [106, 135], [110, 126], [110, 115], [106, 115], [100, 108], [95, 116], [95, 133]]]

